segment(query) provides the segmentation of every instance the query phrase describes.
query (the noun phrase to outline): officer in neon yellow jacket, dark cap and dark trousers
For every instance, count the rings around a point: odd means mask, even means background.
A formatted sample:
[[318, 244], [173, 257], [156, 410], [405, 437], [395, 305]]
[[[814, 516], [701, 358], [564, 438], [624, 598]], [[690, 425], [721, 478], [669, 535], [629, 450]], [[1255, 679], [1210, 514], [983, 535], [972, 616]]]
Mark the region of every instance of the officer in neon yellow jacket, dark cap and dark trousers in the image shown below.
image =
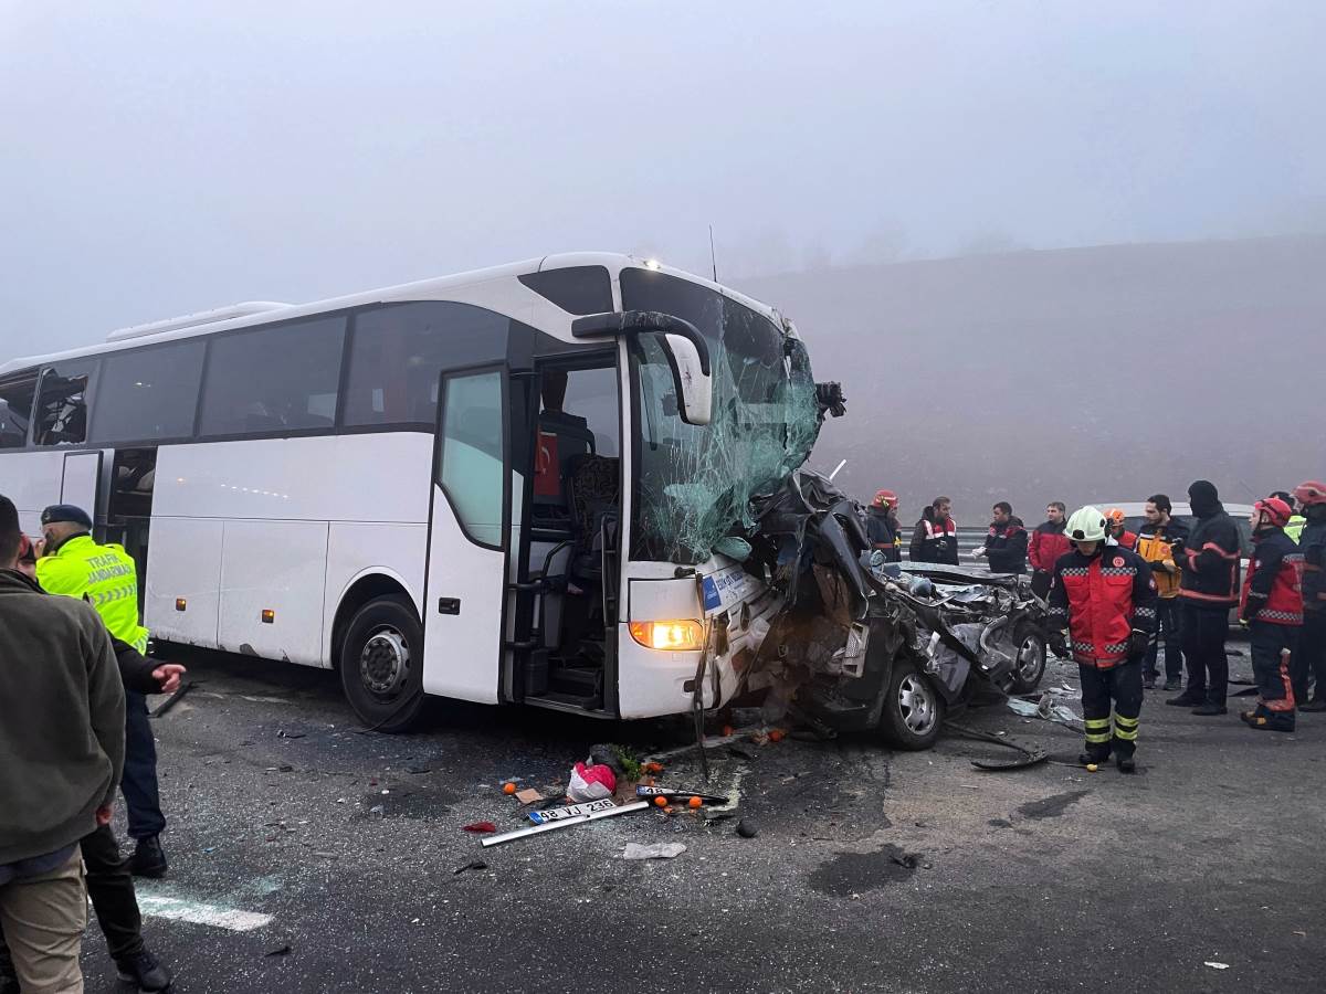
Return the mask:
[[[91, 603], [110, 634], [141, 655], [147, 630], [138, 623], [138, 567], [118, 545], [98, 545], [89, 534], [91, 517], [82, 508], [56, 504], [41, 512], [45, 535], [37, 559], [37, 582], [48, 594]], [[166, 876], [166, 854], [158, 836], [166, 828], [156, 783], [156, 745], [147, 724], [147, 698], [129, 689], [125, 700], [125, 774], [121, 791], [135, 840], [130, 867], [138, 876]]]

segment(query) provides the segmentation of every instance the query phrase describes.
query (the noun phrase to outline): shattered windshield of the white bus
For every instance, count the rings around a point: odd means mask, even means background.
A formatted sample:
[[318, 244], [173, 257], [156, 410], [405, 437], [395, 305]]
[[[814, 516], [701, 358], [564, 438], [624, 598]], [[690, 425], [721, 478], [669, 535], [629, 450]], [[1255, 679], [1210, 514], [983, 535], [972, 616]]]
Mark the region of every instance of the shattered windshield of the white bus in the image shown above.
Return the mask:
[[631, 347], [636, 480], [631, 557], [703, 562], [715, 543], [753, 527], [751, 498], [805, 463], [819, 432], [801, 342], [762, 314], [699, 284], [646, 269], [622, 272], [627, 310], [660, 310], [709, 342], [713, 416], [686, 424], [656, 335]]

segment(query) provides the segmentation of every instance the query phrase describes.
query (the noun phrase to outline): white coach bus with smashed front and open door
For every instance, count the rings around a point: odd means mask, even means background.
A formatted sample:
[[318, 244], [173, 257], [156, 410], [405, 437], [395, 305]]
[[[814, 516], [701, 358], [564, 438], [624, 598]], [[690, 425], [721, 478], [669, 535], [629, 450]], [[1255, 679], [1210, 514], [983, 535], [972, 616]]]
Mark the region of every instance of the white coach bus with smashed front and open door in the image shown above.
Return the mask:
[[77, 504], [178, 643], [427, 694], [639, 718], [729, 700], [777, 596], [713, 551], [818, 431], [794, 327], [568, 254], [252, 302], [0, 366], [0, 493]]

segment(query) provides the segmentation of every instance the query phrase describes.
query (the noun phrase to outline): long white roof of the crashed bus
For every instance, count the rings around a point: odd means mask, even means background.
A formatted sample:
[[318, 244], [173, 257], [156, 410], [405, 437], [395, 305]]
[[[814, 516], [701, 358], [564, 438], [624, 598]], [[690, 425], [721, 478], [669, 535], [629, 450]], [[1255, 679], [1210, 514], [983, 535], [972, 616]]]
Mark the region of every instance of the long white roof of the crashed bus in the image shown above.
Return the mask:
[[[370, 304], [414, 300], [446, 300], [446, 297], [440, 297], [439, 294], [455, 288], [472, 286], [475, 284], [488, 282], [492, 280], [525, 276], [545, 269], [566, 269], [569, 266], [589, 265], [601, 265], [606, 268], [614, 282], [623, 269], [655, 269], [658, 272], [667, 273], [668, 276], [675, 276], [708, 286], [709, 289], [717, 290], [724, 296], [744, 304], [774, 323], [778, 323], [780, 326], [782, 323], [782, 317], [768, 304], [752, 300], [743, 293], [737, 293], [729, 286], [723, 286], [721, 284], [705, 280], [704, 277], [688, 273], [683, 269], [674, 269], [672, 266], [662, 265], [654, 260], [638, 258], [635, 256], [618, 252], [564, 252], [537, 258], [526, 258], [520, 262], [508, 262], [500, 266], [489, 266], [487, 269], [472, 269], [464, 273], [455, 273], [452, 276], [431, 277], [428, 280], [416, 280], [414, 282], [399, 284], [396, 286], [383, 286], [375, 290], [345, 294], [342, 297], [309, 301], [306, 304], [247, 301], [224, 307], [215, 307], [212, 310], [196, 311], [194, 314], [184, 314], [176, 318], [166, 318], [145, 325], [134, 325], [131, 327], [111, 331], [106, 335], [103, 342], [98, 342], [95, 345], [68, 349], [65, 351], [49, 353], [45, 355], [28, 355], [0, 363], [0, 375], [56, 360], [76, 359], [85, 355], [102, 355], [106, 353], [119, 351], [121, 349], [139, 347], [158, 342], [174, 342], [182, 338], [194, 338], [215, 331], [227, 331], [235, 327], [264, 325], [273, 319], [285, 321], [289, 318], [308, 317], [329, 310], [343, 310]], [[532, 297], [537, 297], [533, 290], [529, 290], [529, 293]]]

